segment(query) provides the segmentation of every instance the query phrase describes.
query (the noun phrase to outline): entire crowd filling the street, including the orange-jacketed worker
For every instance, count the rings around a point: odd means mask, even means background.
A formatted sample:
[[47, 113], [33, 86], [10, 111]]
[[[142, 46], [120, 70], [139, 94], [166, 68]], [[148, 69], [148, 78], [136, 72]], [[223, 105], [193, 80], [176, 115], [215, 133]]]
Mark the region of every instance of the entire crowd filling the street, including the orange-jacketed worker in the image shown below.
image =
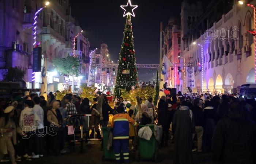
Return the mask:
[[[212, 152], [217, 163], [252, 164], [256, 146], [255, 111], [254, 100], [239, 98], [237, 94], [206, 93], [189, 97], [178, 92], [162, 96], [157, 106], [153, 98], [137, 97], [137, 104], [133, 105], [120, 97], [112, 109], [106, 95], [99, 96], [91, 106], [88, 98], [73, 94], [56, 100], [56, 94], [49, 93], [46, 101], [35, 93], [19, 92], [10, 101], [0, 100], [0, 160], [16, 164], [46, 153], [64, 154], [66, 142], [68, 147], [74, 146], [68, 135], [69, 116], [93, 114], [94, 117], [82, 117], [84, 134], [88, 139], [94, 135], [101, 138], [99, 125], [107, 127], [111, 123], [117, 163], [120, 163], [120, 150], [128, 162], [129, 140], [132, 140], [131, 150], [138, 149], [136, 127], [157, 123], [163, 130], [161, 146], [174, 143], [174, 164], [192, 164], [196, 152]], [[112, 122], [109, 114], [113, 114]], [[46, 131], [57, 133], [46, 134]], [[93, 143], [88, 140], [87, 144]]]

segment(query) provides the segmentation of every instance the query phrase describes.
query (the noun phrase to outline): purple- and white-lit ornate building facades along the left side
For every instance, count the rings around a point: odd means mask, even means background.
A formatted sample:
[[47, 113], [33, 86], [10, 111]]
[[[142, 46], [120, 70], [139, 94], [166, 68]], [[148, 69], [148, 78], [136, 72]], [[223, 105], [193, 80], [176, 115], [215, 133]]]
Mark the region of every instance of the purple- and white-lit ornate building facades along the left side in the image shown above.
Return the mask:
[[[71, 16], [69, 0], [51, 0], [37, 15], [37, 27], [34, 30], [35, 13], [45, 5], [45, 0], [1, 0], [0, 1], [0, 80], [8, 67], [19, 67], [26, 72], [24, 82], [27, 88], [41, 87], [41, 72], [33, 73], [32, 33], [36, 31], [36, 41], [42, 47], [42, 62], [47, 59], [48, 91], [69, 89], [72, 81], [76, 88], [86, 83], [89, 71], [88, 38], [77, 37], [75, 54], [80, 59], [80, 76], [59, 75], [53, 67], [55, 58], [73, 55], [74, 37], [82, 30]], [[34, 31], [33, 31], [34, 30]], [[32, 79], [34, 83], [32, 83]]]

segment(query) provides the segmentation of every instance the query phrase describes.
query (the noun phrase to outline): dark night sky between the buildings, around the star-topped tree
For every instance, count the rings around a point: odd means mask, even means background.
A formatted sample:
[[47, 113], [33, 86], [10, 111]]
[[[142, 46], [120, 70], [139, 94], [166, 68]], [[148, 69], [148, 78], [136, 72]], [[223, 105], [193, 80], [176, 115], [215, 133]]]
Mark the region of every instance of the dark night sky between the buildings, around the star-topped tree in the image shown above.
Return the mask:
[[[110, 58], [117, 63], [126, 17], [120, 5], [128, 0], [70, 0], [72, 16], [79, 22], [92, 45], [108, 44]], [[132, 0], [139, 7], [132, 17], [137, 64], [159, 64], [159, 29], [171, 16], [180, 19], [181, 0]], [[157, 69], [140, 69], [141, 81], [153, 81]], [[154, 73], [154, 75], [153, 75]]]

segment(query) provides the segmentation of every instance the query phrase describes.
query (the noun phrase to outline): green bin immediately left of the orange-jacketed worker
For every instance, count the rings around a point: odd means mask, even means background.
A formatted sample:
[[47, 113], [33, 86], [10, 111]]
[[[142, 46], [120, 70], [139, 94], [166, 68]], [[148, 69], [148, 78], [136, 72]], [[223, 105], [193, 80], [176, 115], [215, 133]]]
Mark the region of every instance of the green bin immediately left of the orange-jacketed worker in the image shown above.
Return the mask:
[[108, 145], [108, 136], [109, 132], [112, 131], [112, 128], [102, 128], [102, 142], [103, 142], [103, 156], [102, 160], [116, 160], [115, 153], [114, 153], [114, 148], [113, 146], [110, 147], [110, 149], [107, 149]]

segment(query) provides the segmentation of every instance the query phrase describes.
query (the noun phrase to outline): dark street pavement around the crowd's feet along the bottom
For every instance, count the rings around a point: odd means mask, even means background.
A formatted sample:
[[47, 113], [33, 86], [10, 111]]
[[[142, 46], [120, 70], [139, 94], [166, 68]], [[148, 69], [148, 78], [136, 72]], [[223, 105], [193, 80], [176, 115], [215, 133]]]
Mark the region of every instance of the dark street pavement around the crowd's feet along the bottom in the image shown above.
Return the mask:
[[[68, 153], [65, 155], [61, 155], [56, 157], [54, 155], [45, 155], [39, 159], [33, 159], [32, 161], [23, 160], [18, 164], [113, 164], [115, 161], [102, 161], [103, 151], [101, 151], [101, 145], [99, 141], [93, 141], [94, 145], [86, 145], [84, 146], [83, 152], [80, 152], [80, 144], [77, 142], [76, 146], [72, 149], [67, 149]], [[162, 158], [161, 164], [173, 164], [173, 144], [170, 146], [161, 148], [159, 153]], [[211, 160], [211, 153], [203, 153], [203, 154], [193, 154], [193, 162], [194, 164], [213, 164]], [[135, 152], [130, 152], [130, 163], [137, 163], [135, 160]], [[148, 164], [155, 163], [154, 161], [140, 161], [140, 164]]]

